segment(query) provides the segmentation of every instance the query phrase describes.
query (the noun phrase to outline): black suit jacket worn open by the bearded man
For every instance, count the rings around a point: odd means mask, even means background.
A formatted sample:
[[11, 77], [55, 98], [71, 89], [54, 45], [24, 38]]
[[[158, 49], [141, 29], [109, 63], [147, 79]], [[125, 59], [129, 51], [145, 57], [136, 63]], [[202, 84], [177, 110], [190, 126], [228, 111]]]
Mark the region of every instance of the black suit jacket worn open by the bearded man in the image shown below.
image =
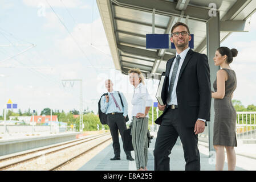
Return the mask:
[[[169, 88], [170, 68], [175, 57], [166, 63], [165, 79], [161, 98], [166, 104]], [[176, 88], [178, 111], [181, 122], [186, 127], [194, 127], [198, 118], [210, 121], [212, 92], [210, 89], [210, 68], [205, 54], [189, 49], [181, 66]], [[167, 104], [166, 104], [167, 105]], [[164, 112], [155, 123], [161, 125]]]

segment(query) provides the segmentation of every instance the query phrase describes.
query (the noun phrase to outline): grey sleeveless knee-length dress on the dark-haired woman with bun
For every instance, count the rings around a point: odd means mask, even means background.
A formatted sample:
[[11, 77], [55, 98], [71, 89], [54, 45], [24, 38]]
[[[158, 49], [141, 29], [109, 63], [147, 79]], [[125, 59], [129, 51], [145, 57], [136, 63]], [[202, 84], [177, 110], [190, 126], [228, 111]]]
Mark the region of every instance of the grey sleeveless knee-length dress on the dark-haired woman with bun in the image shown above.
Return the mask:
[[[231, 96], [237, 88], [237, 77], [233, 70], [226, 68], [224, 70], [229, 77], [225, 81], [224, 98], [214, 98], [213, 145], [237, 147], [235, 134], [237, 112], [231, 101]], [[214, 81], [213, 88], [217, 92], [217, 80]]]

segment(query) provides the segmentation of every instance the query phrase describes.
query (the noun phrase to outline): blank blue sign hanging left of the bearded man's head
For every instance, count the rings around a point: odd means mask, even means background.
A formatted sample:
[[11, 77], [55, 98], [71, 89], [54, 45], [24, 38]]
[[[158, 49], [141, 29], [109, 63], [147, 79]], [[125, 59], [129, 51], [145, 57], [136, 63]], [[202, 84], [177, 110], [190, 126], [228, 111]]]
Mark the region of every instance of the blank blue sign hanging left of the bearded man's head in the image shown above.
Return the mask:
[[146, 34], [147, 49], [168, 49], [169, 34]]

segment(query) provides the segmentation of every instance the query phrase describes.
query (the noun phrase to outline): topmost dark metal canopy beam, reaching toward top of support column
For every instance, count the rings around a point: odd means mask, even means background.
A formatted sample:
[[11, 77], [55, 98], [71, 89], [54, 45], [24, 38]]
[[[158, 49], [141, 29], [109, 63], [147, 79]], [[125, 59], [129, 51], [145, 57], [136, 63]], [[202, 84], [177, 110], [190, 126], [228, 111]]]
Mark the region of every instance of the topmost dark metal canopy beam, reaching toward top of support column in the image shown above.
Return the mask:
[[[118, 6], [127, 7], [129, 9], [135, 9], [140, 11], [145, 11], [152, 13], [153, 9], [156, 9], [156, 14], [165, 16], [177, 16], [180, 17], [181, 11], [176, 10], [177, 3], [170, 1], [160, 1], [160, 0], [111, 0]], [[184, 11], [184, 17], [189, 15], [190, 19], [200, 20], [207, 22], [210, 18], [209, 9], [203, 7], [196, 7], [188, 5]]]

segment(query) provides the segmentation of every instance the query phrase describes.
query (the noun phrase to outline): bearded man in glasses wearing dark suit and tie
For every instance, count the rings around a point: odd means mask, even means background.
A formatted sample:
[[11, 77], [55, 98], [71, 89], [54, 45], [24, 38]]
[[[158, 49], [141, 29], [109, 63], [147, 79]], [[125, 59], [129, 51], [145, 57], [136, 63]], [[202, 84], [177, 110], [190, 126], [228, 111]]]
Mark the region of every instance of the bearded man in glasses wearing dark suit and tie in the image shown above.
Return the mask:
[[[169, 155], [178, 137], [182, 142], [185, 170], [200, 170], [198, 134], [210, 120], [210, 68], [205, 54], [189, 48], [191, 40], [186, 24], [177, 22], [171, 30], [176, 56], [166, 63], [165, 80], [158, 104], [162, 115], [154, 156], [155, 170], [170, 170]], [[173, 164], [175, 165], [175, 164]]]

